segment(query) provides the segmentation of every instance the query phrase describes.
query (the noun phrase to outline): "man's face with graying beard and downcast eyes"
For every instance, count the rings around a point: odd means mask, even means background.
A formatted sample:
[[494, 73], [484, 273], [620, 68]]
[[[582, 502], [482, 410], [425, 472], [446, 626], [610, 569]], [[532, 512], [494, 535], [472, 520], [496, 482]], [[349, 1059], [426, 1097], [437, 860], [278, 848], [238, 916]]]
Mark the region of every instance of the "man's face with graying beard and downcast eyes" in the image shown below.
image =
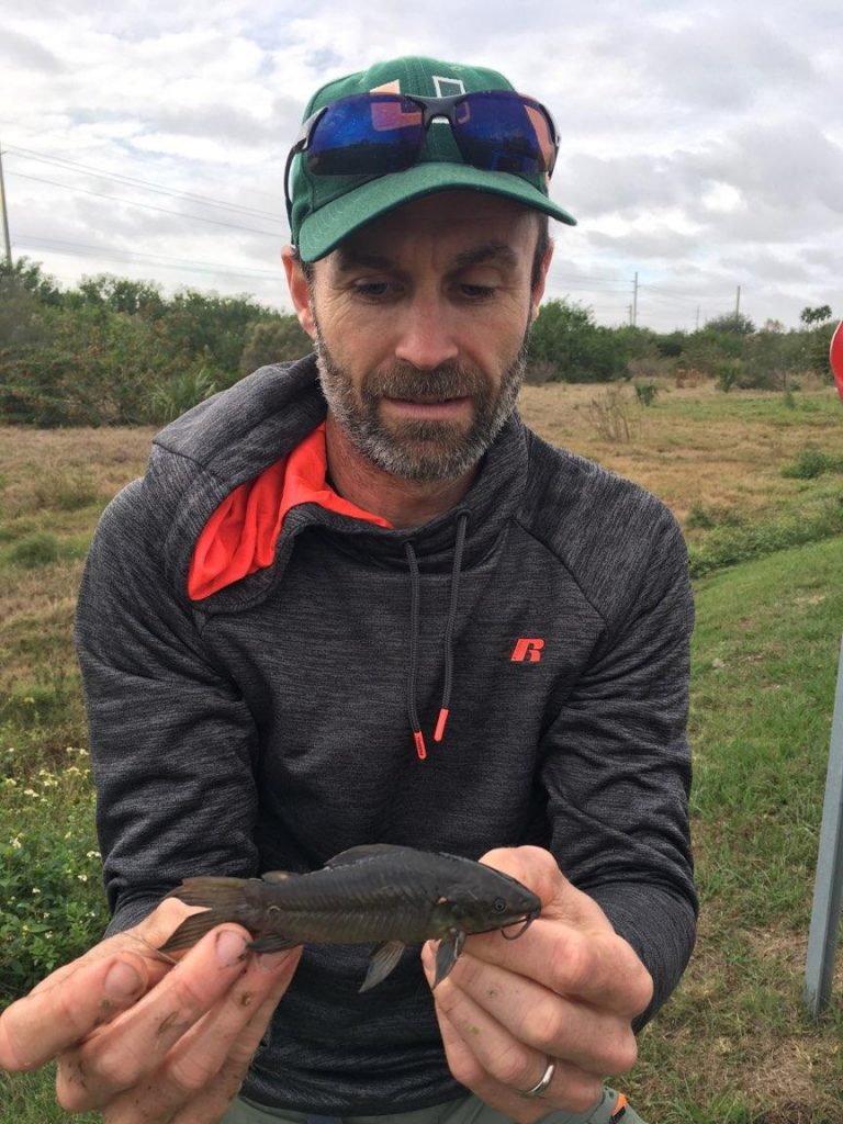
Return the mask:
[[316, 263], [321, 386], [360, 454], [414, 481], [455, 479], [479, 461], [523, 381], [537, 236], [516, 203], [443, 192]]

